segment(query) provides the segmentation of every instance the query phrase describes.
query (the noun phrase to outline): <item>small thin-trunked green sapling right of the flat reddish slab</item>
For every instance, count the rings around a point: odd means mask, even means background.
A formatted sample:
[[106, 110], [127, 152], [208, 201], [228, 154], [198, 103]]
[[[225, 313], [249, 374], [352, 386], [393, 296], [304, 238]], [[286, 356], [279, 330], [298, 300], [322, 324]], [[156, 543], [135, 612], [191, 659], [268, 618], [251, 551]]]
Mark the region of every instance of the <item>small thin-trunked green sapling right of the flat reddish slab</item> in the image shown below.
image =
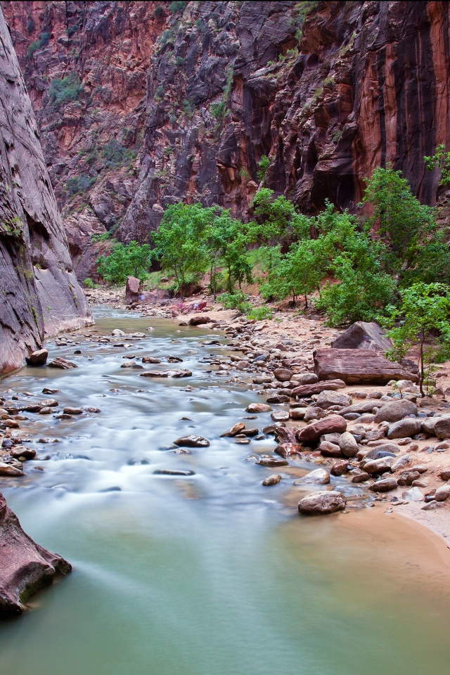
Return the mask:
[[385, 322], [386, 326], [395, 326], [387, 333], [394, 346], [386, 355], [391, 361], [401, 362], [411, 349], [418, 349], [419, 387], [423, 396], [423, 384], [430, 380], [432, 364], [450, 355], [450, 287], [442, 283], [416, 283], [400, 295], [400, 307], [390, 307], [390, 318]]

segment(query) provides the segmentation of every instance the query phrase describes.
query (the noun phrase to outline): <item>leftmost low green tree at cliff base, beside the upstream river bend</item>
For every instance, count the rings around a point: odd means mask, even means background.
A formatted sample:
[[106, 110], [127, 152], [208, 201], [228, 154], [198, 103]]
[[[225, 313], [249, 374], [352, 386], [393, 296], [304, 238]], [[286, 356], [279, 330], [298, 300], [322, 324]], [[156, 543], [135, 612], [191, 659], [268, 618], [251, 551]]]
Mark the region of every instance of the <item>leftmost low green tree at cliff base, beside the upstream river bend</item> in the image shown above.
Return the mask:
[[147, 278], [147, 271], [153, 258], [148, 244], [140, 246], [136, 241], [128, 245], [117, 243], [111, 254], [98, 259], [98, 274], [113, 284], [123, 284], [128, 276]]

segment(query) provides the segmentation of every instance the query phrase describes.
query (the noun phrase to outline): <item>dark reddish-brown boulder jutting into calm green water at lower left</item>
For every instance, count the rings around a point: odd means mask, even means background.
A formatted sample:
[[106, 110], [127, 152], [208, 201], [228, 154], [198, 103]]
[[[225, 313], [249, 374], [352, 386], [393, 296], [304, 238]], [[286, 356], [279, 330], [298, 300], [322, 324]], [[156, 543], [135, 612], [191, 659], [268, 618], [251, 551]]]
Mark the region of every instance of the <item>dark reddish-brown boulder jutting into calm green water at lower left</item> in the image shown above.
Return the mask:
[[27, 598], [49, 586], [57, 574], [68, 574], [70, 563], [35, 544], [0, 494], [0, 618], [18, 616]]

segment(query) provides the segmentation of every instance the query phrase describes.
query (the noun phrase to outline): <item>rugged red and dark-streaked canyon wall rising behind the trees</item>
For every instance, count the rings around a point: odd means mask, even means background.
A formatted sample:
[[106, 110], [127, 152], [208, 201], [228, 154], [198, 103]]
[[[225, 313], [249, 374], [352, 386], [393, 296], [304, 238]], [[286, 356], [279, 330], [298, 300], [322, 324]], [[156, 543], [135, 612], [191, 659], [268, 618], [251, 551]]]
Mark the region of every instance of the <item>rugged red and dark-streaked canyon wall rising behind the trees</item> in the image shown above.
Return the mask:
[[[446, 2], [5, 7], [75, 257], [80, 232], [85, 244], [118, 224], [122, 240], [148, 240], [181, 199], [247, 218], [263, 155], [266, 186], [304, 212], [356, 210], [388, 164], [435, 203], [423, 155], [450, 146]], [[52, 82], [68, 75], [82, 89], [58, 107]], [[129, 165], [110, 164], [112, 141]]]

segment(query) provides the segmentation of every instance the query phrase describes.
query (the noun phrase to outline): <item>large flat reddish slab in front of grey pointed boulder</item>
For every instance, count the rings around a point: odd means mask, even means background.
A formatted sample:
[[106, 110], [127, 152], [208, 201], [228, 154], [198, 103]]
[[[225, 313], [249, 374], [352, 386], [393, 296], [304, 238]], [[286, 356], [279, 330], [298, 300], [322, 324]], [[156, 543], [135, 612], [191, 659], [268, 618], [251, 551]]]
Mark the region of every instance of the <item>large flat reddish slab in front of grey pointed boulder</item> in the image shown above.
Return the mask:
[[371, 349], [317, 349], [313, 356], [314, 371], [319, 380], [340, 379], [354, 385], [387, 385], [390, 380], [418, 380], [417, 375]]

